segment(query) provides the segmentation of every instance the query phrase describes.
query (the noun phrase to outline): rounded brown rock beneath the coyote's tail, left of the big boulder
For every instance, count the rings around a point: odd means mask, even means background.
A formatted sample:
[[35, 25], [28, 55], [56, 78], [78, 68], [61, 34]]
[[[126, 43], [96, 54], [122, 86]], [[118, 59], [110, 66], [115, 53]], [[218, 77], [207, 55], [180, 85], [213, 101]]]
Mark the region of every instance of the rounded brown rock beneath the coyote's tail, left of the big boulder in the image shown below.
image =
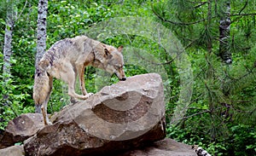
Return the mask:
[[26, 113], [9, 121], [3, 136], [0, 138], [0, 149], [15, 145], [15, 142], [23, 142], [34, 136], [36, 132], [44, 127], [42, 114]]

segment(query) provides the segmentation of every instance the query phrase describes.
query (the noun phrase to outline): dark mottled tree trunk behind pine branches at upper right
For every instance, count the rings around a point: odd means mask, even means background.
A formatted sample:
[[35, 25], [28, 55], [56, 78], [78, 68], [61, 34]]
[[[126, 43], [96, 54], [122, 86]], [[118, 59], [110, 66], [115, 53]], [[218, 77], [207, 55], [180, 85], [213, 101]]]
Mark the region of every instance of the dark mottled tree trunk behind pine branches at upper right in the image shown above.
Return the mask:
[[230, 52], [230, 0], [225, 0], [219, 22], [219, 56], [226, 64], [231, 64]]

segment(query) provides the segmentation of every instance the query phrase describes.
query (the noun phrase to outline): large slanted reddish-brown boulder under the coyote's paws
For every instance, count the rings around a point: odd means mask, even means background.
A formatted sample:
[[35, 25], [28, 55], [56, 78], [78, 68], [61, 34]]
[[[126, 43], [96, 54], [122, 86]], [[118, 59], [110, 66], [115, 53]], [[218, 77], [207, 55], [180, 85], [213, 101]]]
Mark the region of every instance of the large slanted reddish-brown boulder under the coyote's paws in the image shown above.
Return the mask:
[[166, 136], [160, 75], [137, 75], [68, 105], [24, 143], [26, 155], [106, 155]]

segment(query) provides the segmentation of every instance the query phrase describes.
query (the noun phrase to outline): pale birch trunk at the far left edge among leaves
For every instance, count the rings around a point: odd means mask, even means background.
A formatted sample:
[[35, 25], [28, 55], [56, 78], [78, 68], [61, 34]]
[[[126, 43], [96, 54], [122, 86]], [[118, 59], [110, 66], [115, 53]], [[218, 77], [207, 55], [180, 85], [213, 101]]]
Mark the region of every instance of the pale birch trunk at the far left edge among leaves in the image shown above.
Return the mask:
[[12, 38], [13, 38], [13, 29], [15, 26], [15, 11], [14, 11], [14, 2], [7, 0], [8, 8], [6, 12], [6, 26], [4, 33], [4, 45], [3, 45], [3, 105], [9, 104], [9, 92], [5, 87], [8, 86], [10, 78], [10, 67], [11, 62], [10, 58], [13, 55], [12, 51]]

